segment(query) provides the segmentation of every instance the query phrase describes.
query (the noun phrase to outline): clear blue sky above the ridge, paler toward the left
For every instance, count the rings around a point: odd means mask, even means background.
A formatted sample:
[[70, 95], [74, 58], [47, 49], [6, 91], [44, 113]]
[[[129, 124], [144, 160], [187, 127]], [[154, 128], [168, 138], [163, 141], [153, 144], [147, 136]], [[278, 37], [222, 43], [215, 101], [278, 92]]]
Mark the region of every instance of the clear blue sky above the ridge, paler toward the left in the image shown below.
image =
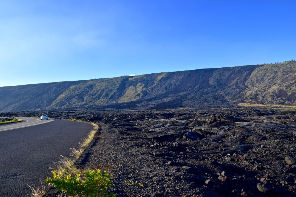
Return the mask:
[[296, 59], [296, 1], [0, 0], [0, 87]]

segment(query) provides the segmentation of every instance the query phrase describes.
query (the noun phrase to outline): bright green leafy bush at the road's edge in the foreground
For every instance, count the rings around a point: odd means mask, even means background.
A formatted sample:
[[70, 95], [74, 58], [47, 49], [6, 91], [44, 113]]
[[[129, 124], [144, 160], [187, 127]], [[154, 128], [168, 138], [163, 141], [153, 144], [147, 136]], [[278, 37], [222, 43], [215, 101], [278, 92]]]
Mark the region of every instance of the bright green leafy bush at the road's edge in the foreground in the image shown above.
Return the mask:
[[80, 170], [81, 173], [63, 175], [52, 171], [53, 178], [47, 178], [46, 183], [52, 184], [57, 190], [67, 192], [70, 196], [116, 196], [108, 194], [108, 186], [113, 185], [108, 172], [101, 170]]

